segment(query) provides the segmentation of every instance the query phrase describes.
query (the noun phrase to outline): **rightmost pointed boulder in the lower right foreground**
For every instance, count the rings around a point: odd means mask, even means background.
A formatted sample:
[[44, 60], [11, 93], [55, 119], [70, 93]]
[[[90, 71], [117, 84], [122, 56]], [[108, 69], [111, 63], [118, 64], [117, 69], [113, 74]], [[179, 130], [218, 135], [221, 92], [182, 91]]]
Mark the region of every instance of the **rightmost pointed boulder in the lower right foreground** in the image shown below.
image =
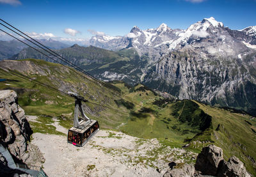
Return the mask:
[[250, 174], [246, 171], [243, 162], [236, 156], [232, 156], [228, 159], [228, 162], [224, 162], [218, 174], [220, 177], [250, 177]]

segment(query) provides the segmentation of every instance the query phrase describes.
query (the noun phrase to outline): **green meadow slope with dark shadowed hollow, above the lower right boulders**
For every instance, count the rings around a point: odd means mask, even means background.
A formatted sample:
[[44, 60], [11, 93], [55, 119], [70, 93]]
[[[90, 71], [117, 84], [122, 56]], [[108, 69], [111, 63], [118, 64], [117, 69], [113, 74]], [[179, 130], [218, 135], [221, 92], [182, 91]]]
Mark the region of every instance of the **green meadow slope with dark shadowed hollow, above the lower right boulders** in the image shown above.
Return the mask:
[[[115, 84], [127, 93], [129, 89], [124, 85]], [[190, 150], [198, 152], [207, 144], [216, 144], [223, 148], [226, 160], [236, 155], [250, 173], [256, 174], [255, 162], [252, 160], [256, 158], [256, 133], [253, 132], [256, 130], [255, 118], [190, 100], [168, 102], [159, 107], [152, 103], [160, 97], [147, 89], [136, 91], [140, 87], [138, 85], [135, 91], [127, 93], [137, 103], [134, 111], [140, 112], [143, 107], [151, 110], [135, 116], [132, 114], [125, 125], [118, 127], [119, 130], [137, 137], [157, 138], [171, 146], [180, 147], [187, 142]], [[211, 117], [211, 124], [206, 129], [201, 126], [205, 117]], [[207, 125], [207, 121], [205, 123]], [[201, 132], [202, 129], [205, 130]]]

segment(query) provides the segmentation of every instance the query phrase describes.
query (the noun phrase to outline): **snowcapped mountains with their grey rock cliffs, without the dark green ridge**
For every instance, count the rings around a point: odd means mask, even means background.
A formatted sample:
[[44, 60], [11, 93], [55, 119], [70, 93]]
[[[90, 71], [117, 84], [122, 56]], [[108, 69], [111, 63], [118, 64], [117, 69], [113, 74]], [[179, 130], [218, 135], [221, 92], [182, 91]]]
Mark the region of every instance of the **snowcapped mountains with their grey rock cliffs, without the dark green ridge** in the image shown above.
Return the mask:
[[141, 82], [150, 88], [256, 114], [255, 29], [232, 30], [211, 17], [186, 30], [134, 26], [115, 42], [148, 57]]

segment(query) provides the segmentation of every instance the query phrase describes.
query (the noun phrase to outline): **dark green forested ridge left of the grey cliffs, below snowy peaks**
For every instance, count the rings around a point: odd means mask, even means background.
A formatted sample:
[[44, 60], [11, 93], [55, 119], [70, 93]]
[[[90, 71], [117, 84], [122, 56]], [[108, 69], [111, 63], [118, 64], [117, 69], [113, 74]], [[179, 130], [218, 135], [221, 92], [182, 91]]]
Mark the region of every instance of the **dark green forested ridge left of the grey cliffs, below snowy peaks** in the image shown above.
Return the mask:
[[[129, 77], [123, 78], [124, 81], [131, 84], [140, 81], [140, 75], [142, 75], [140, 67], [143, 68], [147, 64], [147, 57], [140, 57], [138, 52], [134, 49], [123, 49], [118, 52], [113, 52], [111, 50], [100, 49], [99, 47], [80, 47], [79, 45], [74, 45], [66, 49], [55, 51], [98, 78], [106, 79], [102, 75], [105, 72], [113, 72], [120, 75], [125, 74]], [[13, 58], [35, 58], [55, 62], [31, 48], [23, 49], [19, 54], [13, 56]], [[60, 59], [56, 60], [62, 62]]]

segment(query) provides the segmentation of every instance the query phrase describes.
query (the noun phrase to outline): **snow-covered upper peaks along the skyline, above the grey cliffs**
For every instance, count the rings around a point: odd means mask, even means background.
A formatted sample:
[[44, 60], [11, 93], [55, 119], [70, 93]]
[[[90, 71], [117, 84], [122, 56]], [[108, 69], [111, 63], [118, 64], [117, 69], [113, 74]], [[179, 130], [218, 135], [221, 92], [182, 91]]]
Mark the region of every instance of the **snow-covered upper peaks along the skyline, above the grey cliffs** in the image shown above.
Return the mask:
[[[90, 45], [102, 47], [110, 50], [120, 50], [124, 48], [134, 48], [140, 56], [148, 56], [148, 63], [154, 63], [162, 56], [173, 50], [182, 49], [192, 43], [205, 42], [207, 38], [218, 38], [221, 44], [218, 51], [222, 50], [228, 54], [234, 52], [232, 41], [235, 45], [244, 45], [255, 49], [256, 30], [255, 26], [246, 27], [241, 31], [231, 30], [224, 27], [222, 22], [218, 22], [213, 17], [203, 19], [188, 27], [186, 30], [171, 29], [166, 24], [161, 24], [156, 29], [141, 30], [139, 27], [132, 27], [130, 33], [125, 36], [93, 36]], [[237, 41], [239, 41], [237, 44]], [[231, 44], [229, 43], [231, 42]], [[229, 44], [228, 44], [229, 43]], [[216, 43], [214, 43], [216, 45]], [[225, 50], [226, 47], [230, 50]], [[218, 52], [217, 51], [217, 52]], [[228, 55], [227, 54], [227, 55]], [[226, 54], [225, 54], [226, 55]]]

